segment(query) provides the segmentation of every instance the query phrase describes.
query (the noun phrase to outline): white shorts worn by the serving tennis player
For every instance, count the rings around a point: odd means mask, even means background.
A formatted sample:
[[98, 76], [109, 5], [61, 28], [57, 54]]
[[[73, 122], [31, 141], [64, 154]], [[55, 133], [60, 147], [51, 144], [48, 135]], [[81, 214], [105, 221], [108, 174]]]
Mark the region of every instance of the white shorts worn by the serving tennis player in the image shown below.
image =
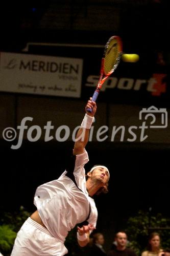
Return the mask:
[[64, 243], [29, 217], [17, 233], [11, 256], [63, 256], [67, 252]]

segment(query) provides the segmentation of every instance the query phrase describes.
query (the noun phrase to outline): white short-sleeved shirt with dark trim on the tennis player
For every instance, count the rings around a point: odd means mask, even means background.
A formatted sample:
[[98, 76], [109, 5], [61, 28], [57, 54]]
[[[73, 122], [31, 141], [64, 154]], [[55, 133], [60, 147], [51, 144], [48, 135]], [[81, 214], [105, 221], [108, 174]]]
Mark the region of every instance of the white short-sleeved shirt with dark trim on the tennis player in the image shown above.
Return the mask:
[[68, 231], [85, 220], [96, 226], [98, 211], [86, 189], [84, 165], [89, 161], [85, 151], [73, 156], [72, 163], [57, 180], [40, 185], [34, 204], [42, 222], [59, 241], [65, 241]]

